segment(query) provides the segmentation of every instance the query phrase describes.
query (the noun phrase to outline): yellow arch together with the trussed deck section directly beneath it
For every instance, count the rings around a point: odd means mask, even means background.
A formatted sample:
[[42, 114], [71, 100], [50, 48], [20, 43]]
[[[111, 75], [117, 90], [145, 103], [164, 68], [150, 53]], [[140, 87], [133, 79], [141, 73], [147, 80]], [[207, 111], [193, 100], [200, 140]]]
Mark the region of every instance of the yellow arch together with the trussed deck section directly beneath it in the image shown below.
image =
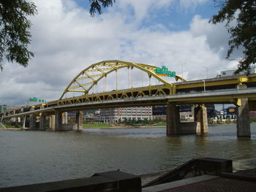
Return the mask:
[[[117, 72], [119, 69], [139, 69], [142, 72], [146, 72], [148, 77], [155, 77], [162, 85], [148, 85], [141, 88], [129, 88], [126, 90], [113, 90], [113, 91], [102, 91], [102, 93], [91, 93], [94, 86], [97, 85], [99, 80], [107, 78], [110, 73]], [[157, 66], [147, 64], [136, 64], [127, 61], [109, 60], [100, 61], [96, 64], [88, 66], [83, 69], [65, 88], [64, 92], [59, 98], [58, 105], [64, 104], [80, 104], [86, 101], [105, 101], [109, 99], [124, 99], [124, 98], [137, 98], [138, 96], [159, 96], [159, 95], [172, 95], [176, 93], [175, 85], [171, 82], [167, 82], [162, 77], [159, 77], [156, 73]], [[183, 77], [176, 74], [176, 81], [181, 80], [187, 82]], [[67, 97], [67, 93], [78, 92], [81, 96]], [[66, 97], [65, 97], [66, 95]]]

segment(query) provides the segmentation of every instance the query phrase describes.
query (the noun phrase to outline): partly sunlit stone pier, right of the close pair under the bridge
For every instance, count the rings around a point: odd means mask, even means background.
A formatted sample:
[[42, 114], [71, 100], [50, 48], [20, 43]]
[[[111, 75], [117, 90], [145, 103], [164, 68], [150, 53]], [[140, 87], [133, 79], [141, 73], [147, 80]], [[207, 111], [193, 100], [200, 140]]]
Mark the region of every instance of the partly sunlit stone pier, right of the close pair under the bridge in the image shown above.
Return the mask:
[[200, 126], [197, 126], [196, 134], [208, 134], [208, 120], [207, 120], [207, 108], [204, 105], [195, 107], [195, 122], [198, 122]]

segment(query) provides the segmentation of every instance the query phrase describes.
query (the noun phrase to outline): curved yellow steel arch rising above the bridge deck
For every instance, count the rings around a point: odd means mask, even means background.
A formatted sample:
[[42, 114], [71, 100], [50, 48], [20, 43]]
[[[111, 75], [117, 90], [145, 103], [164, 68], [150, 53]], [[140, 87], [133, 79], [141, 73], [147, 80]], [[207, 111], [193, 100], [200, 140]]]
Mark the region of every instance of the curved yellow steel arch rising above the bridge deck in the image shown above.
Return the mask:
[[[103, 77], [107, 77], [108, 74], [111, 72], [117, 72], [118, 69], [123, 68], [137, 68], [140, 69], [143, 72], [146, 72], [148, 74], [148, 77], [155, 77], [159, 82], [162, 82], [163, 84], [173, 87], [173, 84], [170, 82], [167, 82], [166, 80], [162, 79], [155, 73], [155, 69], [157, 66], [151, 66], [147, 64], [136, 64], [132, 62], [127, 61], [119, 61], [119, 60], [108, 60], [108, 61], [100, 61], [95, 64], [91, 64], [91, 66], [86, 67], [86, 69], [83, 69], [75, 78], [67, 85], [67, 88], [65, 88], [64, 92], [61, 94], [61, 97], [59, 100], [63, 99], [64, 95], [68, 92], [80, 92], [84, 95], [88, 94], [91, 88], [93, 88], [95, 85], [97, 85], [97, 82], [99, 80], [102, 80]], [[93, 72], [97, 72], [97, 74], [91, 74]], [[187, 82], [183, 77], [176, 74], [175, 77], [176, 81], [181, 80], [184, 82]], [[82, 80], [87, 80], [87, 82], [81, 82]]]

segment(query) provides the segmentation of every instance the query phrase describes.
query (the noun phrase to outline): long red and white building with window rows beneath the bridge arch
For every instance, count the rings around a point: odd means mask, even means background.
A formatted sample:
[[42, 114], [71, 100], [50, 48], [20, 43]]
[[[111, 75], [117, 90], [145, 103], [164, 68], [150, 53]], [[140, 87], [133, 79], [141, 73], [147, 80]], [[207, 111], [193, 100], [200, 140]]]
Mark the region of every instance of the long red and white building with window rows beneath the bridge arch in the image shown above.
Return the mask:
[[102, 122], [117, 123], [127, 120], [152, 120], [152, 107], [122, 107], [100, 110]]

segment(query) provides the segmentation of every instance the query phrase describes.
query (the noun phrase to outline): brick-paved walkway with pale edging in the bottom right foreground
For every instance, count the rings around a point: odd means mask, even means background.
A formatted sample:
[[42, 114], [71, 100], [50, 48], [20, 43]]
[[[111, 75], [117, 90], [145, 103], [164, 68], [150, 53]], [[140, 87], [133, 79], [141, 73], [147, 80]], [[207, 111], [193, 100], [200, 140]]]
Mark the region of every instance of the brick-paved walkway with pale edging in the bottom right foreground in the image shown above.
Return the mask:
[[222, 174], [222, 177], [202, 175], [186, 180], [143, 188], [143, 192], [198, 192], [198, 191], [256, 191], [256, 169]]

